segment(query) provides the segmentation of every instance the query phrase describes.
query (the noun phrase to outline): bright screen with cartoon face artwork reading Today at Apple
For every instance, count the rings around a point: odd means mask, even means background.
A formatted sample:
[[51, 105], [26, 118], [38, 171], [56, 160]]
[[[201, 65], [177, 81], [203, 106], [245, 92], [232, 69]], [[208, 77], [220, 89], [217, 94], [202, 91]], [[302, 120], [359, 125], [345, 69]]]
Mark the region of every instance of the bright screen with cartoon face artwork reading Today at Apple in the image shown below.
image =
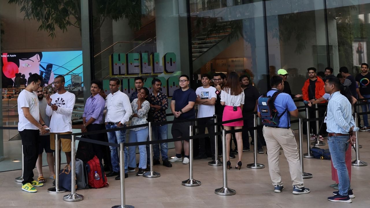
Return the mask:
[[2, 88], [27, 85], [28, 77], [34, 73], [43, 78], [43, 87], [53, 83], [54, 77], [68, 74], [65, 76], [68, 87], [74, 77], [82, 77], [82, 72], [82, 51], [1, 53]]

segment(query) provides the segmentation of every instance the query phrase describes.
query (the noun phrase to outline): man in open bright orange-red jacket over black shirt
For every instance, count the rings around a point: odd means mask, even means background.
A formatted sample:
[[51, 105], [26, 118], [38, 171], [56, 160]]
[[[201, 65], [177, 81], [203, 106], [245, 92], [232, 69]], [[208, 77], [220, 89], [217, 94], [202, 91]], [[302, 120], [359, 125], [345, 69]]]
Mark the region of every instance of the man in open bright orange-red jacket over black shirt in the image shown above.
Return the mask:
[[[316, 77], [316, 68], [310, 67], [310, 68], [307, 68], [307, 71], [308, 71], [308, 76], [310, 78], [305, 81], [305, 84], [302, 87], [303, 100], [314, 101], [316, 99], [323, 97], [323, 95], [325, 94], [325, 88], [324, 88], [325, 84], [322, 79], [320, 79], [319, 77]], [[322, 103], [325, 103], [325, 101], [323, 101]], [[321, 108], [319, 110], [319, 117], [324, 116], [324, 114], [325, 114], [325, 109]], [[309, 115], [310, 115], [310, 118], [315, 118], [314, 108], [309, 108]], [[312, 130], [314, 134], [313, 137], [311, 137], [311, 140], [316, 140], [317, 138], [316, 134], [318, 130], [316, 130], [315, 121], [310, 122], [310, 128], [311, 128], [310, 130]], [[323, 130], [324, 129], [322, 128], [322, 130], [320, 131], [320, 134], [322, 134]], [[320, 137], [320, 141], [322, 141], [323, 140], [322, 135], [319, 135], [319, 137]]]

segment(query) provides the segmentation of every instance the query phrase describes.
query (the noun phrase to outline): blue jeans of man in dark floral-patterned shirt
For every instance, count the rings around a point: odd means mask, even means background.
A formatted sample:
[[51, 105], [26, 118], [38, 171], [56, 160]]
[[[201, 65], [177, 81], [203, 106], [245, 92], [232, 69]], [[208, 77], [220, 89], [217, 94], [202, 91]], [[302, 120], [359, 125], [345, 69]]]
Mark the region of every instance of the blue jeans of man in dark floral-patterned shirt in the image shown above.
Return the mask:
[[[167, 140], [167, 124], [153, 125], [152, 126], [153, 141]], [[162, 161], [168, 159], [168, 146], [167, 142], [161, 144]], [[159, 160], [159, 144], [153, 144], [153, 159]]]

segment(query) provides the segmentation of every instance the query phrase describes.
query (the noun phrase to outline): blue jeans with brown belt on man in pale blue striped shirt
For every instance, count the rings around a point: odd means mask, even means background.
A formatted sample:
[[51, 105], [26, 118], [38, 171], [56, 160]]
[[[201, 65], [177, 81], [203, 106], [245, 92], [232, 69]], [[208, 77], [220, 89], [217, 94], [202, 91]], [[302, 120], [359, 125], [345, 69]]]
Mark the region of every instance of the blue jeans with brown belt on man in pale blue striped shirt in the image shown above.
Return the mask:
[[333, 136], [327, 138], [333, 166], [338, 173], [339, 194], [342, 196], [347, 196], [348, 190], [351, 187], [345, 161], [346, 151], [350, 148], [348, 140], [349, 136]]

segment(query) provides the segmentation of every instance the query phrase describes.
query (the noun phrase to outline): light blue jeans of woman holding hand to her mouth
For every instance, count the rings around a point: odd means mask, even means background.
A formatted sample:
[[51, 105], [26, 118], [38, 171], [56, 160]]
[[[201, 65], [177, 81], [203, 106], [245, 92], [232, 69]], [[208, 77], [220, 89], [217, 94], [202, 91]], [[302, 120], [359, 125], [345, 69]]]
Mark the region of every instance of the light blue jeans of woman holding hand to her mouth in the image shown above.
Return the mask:
[[[145, 127], [141, 130], [130, 130], [130, 143], [131, 142], [142, 142], [147, 141], [148, 138], [148, 127]], [[139, 153], [140, 153], [140, 160], [139, 160], [139, 168], [146, 169], [147, 168], [147, 148], [146, 145], [139, 145]], [[136, 146], [128, 147], [128, 166], [131, 168], [136, 167]]]

